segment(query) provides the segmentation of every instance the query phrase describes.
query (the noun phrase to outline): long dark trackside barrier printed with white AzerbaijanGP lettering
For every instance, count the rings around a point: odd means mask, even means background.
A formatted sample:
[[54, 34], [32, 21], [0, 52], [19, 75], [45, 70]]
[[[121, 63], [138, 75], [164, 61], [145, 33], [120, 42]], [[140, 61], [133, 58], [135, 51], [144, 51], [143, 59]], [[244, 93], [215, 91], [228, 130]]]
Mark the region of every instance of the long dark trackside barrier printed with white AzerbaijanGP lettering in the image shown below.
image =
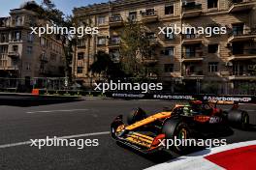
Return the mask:
[[193, 100], [193, 99], [200, 99], [200, 100], [226, 100], [226, 101], [239, 101], [241, 103], [256, 103], [255, 96], [218, 96], [218, 95], [208, 95], [208, 94], [201, 94], [201, 95], [187, 95], [187, 94], [170, 94], [170, 93], [150, 93], [150, 94], [143, 94], [143, 93], [121, 93], [121, 92], [107, 92], [105, 94], [109, 98], [117, 98], [117, 99], [168, 99], [168, 100]]

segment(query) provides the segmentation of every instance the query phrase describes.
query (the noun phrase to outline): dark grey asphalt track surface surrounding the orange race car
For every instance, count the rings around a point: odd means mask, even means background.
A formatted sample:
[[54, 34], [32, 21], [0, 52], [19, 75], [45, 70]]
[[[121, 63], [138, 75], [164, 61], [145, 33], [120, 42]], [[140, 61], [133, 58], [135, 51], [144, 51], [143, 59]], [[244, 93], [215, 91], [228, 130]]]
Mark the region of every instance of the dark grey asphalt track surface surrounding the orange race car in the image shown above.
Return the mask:
[[[11, 97], [9, 99], [12, 100]], [[7, 102], [5, 97], [0, 98], [0, 170], [136, 170], [175, 157], [170, 154], [141, 155], [116, 145], [108, 134], [115, 116], [139, 106], [154, 113], [163, 107], [173, 106], [175, 103], [171, 101], [84, 99], [46, 104], [32, 102], [33, 99], [29, 102], [17, 100], [14, 97], [13, 101]], [[250, 122], [256, 125], [256, 106], [241, 105], [241, 108], [249, 110]], [[83, 150], [76, 147], [45, 147], [39, 150], [22, 143], [47, 136], [98, 139], [100, 145]], [[256, 140], [255, 127], [249, 131], [234, 128], [234, 134], [227, 137], [228, 143], [248, 140]]]

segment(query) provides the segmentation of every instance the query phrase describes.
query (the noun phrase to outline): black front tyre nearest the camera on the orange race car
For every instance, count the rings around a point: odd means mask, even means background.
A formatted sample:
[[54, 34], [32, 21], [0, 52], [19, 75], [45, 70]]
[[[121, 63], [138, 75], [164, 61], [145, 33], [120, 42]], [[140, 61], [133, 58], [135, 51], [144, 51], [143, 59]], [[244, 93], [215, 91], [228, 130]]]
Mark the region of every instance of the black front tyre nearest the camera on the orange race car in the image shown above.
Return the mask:
[[[177, 119], [167, 120], [163, 125], [162, 132], [165, 134], [166, 145], [169, 147], [167, 149], [171, 149], [179, 155], [184, 155], [188, 152], [188, 146], [182, 146], [181, 144], [182, 140], [190, 138], [190, 130], [185, 123]], [[176, 145], [176, 141], [180, 144], [179, 146]], [[173, 145], [169, 146], [171, 142], [173, 142]]]

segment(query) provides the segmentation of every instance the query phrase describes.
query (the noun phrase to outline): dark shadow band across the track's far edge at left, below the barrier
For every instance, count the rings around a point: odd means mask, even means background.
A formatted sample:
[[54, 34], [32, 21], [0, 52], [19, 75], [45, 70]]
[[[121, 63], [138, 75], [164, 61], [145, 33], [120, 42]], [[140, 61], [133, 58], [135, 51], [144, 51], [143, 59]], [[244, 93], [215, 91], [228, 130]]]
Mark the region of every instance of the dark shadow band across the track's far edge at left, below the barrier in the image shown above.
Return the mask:
[[83, 99], [73, 97], [10, 97], [1, 96], [0, 105], [10, 105], [18, 107], [31, 107], [65, 102], [75, 102]]

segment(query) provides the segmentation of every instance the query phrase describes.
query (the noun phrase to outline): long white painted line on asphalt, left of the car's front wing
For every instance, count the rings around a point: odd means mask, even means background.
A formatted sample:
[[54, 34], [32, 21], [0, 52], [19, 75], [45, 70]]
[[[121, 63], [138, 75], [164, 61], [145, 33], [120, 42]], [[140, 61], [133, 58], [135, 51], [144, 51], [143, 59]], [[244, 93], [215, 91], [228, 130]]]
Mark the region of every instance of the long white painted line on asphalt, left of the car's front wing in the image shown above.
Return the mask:
[[[57, 137], [57, 138], [59, 138], [59, 139], [73, 139], [73, 138], [79, 138], [79, 137], [105, 135], [105, 134], [110, 134], [110, 133], [111, 133], [110, 131], [102, 131], [102, 132], [94, 132], [94, 133], [76, 134], [76, 135], [70, 135], [70, 136], [60, 136], [60, 137]], [[30, 145], [31, 143], [32, 143], [31, 141], [25, 141], [25, 142], [4, 144], [4, 145], [0, 145], [0, 149], [22, 146], [22, 145]]]

